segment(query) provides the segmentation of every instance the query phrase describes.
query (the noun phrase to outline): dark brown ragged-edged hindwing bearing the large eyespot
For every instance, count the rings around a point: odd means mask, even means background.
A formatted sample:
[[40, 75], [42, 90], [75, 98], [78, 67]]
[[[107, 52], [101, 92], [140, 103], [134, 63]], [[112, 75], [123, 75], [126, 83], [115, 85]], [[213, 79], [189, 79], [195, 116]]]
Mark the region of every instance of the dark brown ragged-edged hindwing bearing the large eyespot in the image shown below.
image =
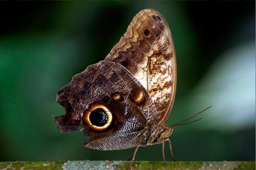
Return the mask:
[[[84, 146], [99, 150], [137, 146], [147, 120], [152, 118], [148, 113], [155, 110], [141, 83], [122, 65], [106, 60], [75, 75], [59, 90], [57, 102], [66, 109], [65, 115], [54, 117], [58, 129], [71, 132], [82, 127], [89, 138]], [[111, 114], [112, 120], [103, 123], [108, 124], [104, 128], [93, 123], [97, 118], [86, 118], [97, 109]]]

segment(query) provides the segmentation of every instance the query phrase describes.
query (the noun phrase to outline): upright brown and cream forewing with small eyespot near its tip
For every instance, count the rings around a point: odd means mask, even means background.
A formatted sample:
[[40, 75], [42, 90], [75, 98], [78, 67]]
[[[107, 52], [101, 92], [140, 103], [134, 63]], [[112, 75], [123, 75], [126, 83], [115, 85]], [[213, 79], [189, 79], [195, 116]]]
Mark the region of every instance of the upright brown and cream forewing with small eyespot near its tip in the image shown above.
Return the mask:
[[105, 60], [123, 65], [140, 81], [157, 109], [155, 123], [161, 126], [176, 93], [175, 49], [163, 16], [153, 9], [140, 11]]

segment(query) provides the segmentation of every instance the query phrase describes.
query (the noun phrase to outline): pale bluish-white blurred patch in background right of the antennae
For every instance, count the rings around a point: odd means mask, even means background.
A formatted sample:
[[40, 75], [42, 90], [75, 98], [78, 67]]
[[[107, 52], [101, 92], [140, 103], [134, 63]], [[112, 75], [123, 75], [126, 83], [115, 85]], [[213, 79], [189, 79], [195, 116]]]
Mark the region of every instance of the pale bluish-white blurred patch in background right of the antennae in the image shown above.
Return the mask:
[[233, 47], [217, 58], [189, 97], [191, 112], [213, 105], [203, 113], [206, 119], [199, 126], [205, 129], [255, 127], [255, 42]]

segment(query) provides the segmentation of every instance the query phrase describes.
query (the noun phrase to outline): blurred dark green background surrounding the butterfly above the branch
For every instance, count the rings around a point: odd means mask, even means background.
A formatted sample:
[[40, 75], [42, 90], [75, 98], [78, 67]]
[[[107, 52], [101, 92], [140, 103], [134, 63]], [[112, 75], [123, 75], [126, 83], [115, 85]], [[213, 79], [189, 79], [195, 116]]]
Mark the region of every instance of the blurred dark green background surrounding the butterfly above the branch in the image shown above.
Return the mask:
[[[154, 8], [171, 28], [178, 83], [168, 125], [178, 161], [255, 160], [255, 1], [1, 2], [0, 161], [127, 160], [134, 149], [82, 147], [62, 134], [57, 91], [103, 60], [136, 13]], [[136, 160], [162, 160], [161, 145]], [[166, 159], [171, 160], [166, 147]]]

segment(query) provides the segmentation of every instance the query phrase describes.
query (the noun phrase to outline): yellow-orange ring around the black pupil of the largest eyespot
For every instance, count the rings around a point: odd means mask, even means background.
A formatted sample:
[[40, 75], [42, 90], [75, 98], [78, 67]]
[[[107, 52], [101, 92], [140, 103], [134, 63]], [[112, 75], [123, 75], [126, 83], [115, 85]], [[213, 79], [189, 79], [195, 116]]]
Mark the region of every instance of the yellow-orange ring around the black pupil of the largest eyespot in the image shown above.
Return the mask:
[[[93, 125], [90, 121], [91, 112], [93, 112], [94, 110], [96, 110], [98, 108], [103, 109], [108, 116], [107, 122], [104, 124], [104, 126]], [[89, 125], [90, 129], [93, 129], [96, 131], [102, 131], [102, 130], [107, 129], [110, 126], [112, 119], [113, 119], [113, 116], [112, 116], [111, 111], [108, 109], [108, 107], [106, 105], [104, 105], [102, 103], [92, 103], [89, 106], [89, 108], [87, 109], [87, 111], [84, 113], [84, 116], [83, 116], [83, 120], [84, 120], [85, 124]]]

